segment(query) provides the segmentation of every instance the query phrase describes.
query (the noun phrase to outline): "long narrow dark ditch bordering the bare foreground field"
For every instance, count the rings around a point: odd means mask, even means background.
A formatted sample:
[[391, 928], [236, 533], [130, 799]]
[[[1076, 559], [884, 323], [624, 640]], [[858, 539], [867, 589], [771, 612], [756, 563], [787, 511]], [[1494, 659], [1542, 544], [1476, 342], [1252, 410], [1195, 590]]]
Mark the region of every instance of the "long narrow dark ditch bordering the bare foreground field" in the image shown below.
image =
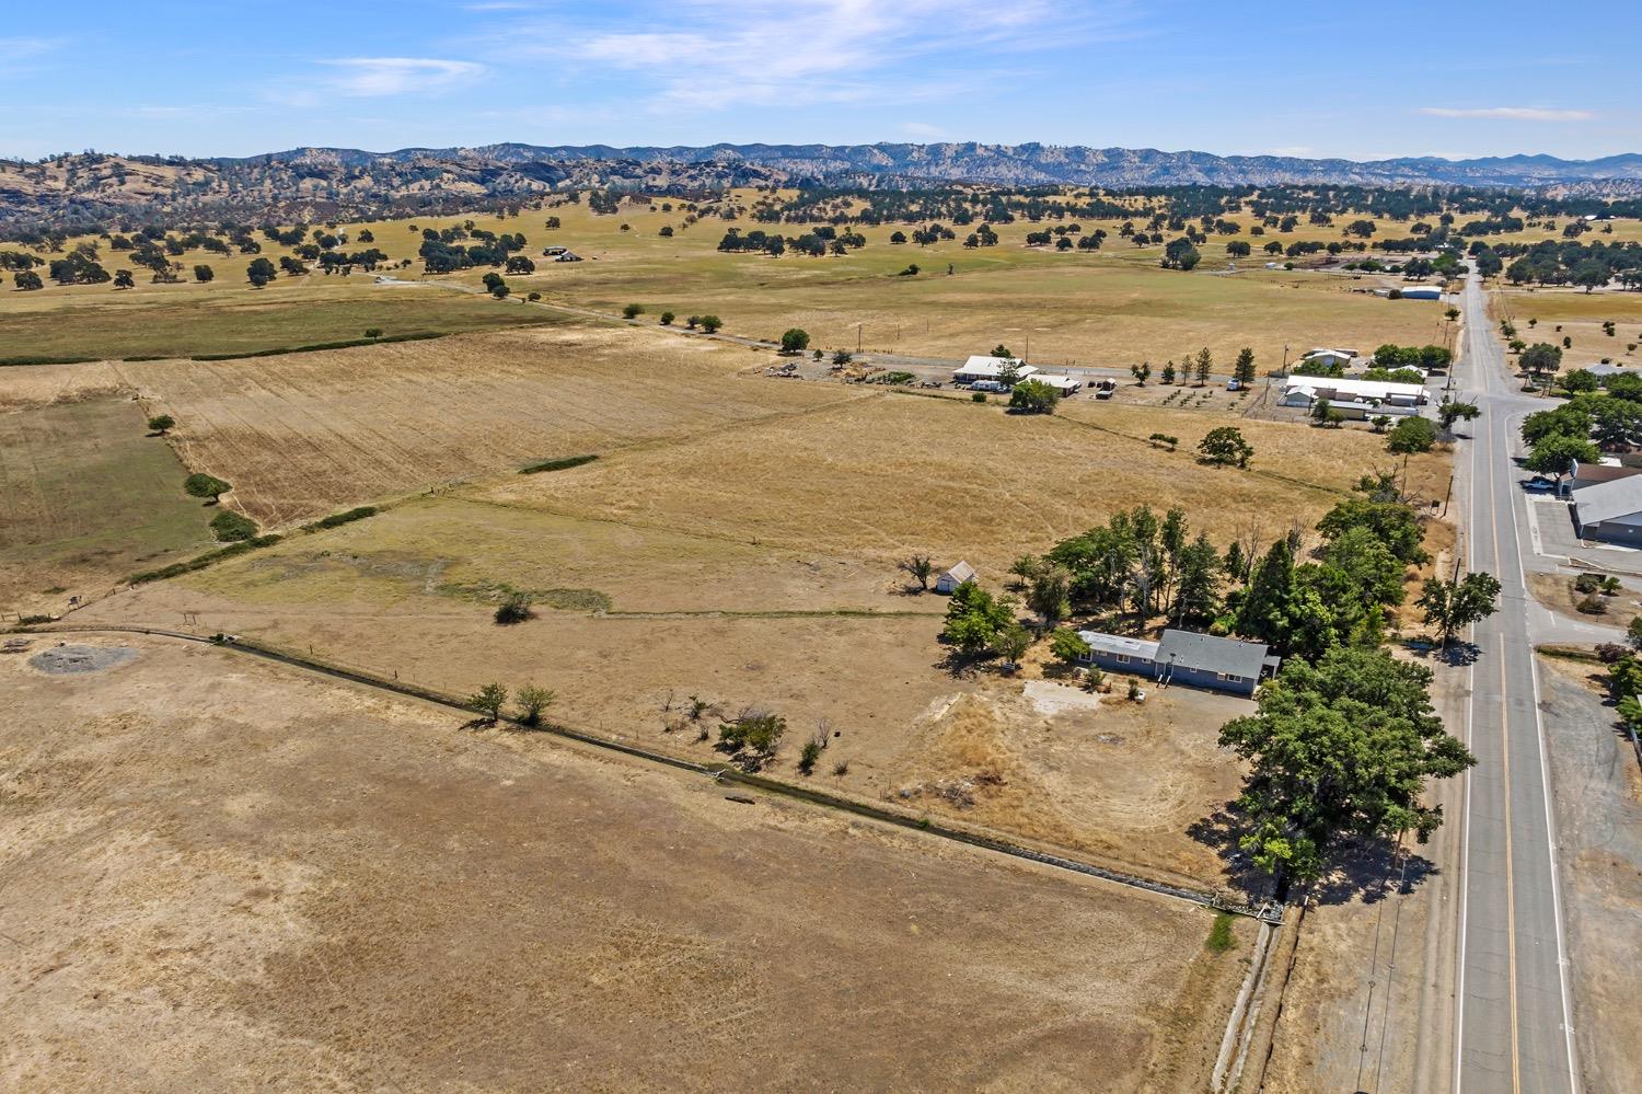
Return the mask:
[[[164, 627], [141, 627], [130, 624], [53, 624], [53, 626], [30, 626], [30, 627], [11, 627], [13, 634], [74, 634], [74, 632], [113, 632], [113, 634], [149, 634], [179, 639], [184, 642], [199, 642], [202, 646], [213, 646], [217, 649], [225, 649], [230, 652], [241, 652], [251, 657], [263, 657], [266, 660], [291, 665], [294, 669], [304, 669], [307, 672], [315, 672], [327, 677], [335, 677], [338, 680], [346, 680], [350, 683], [360, 683], [369, 688], [378, 688], [384, 692], [392, 692], [407, 698], [422, 700], [425, 703], [433, 703], [445, 706], [448, 710], [461, 711], [465, 715], [478, 715], [473, 706], [466, 701], [437, 692], [433, 688], [420, 687], [415, 683], [407, 683], [404, 680], [384, 680], [369, 672], [358, 669], [346, 669], [325, 662], [319, 657], [305, 657], [289, 650], [282, 650], [276, 646], [258, 642], [245, 637], [232, 637], [227, 641], [215, 641], [202, 634], [189, 634], [186, 631], [169, 631]], [[521, 726], [517, 719], [502, 718], [509, 724]], [[1020, 843], [1002, 839], [997, 836], [982, 834], [969, 828], [961, 828], [956, 825], [938, 823], [929, 820], [929, 816], [913, 816], [911, 813], [903, 813], [900, 810], [877, 805], [870, 802], [860, 802], [855, 798], [844, 797], [841, 793], [832, 793], [829, 790], [818, 790], [811, 787], [801, 787], [796, 784], [780, 782], [777, 779], [768, 779], [764, 775], [754, 775], [744, 772], [731, 764], [703, 764], [698, 761], [683, 759], [678, 756], [668, 756], [667, 752], [658, 752], [655, 749], [647, 749], [639, 744], [629, 744], [626, 741], [616, 741], [596, 733], [585, 729], [575, 729], [565, 724], [544, 724], [539, 728], [529, 728], [530, 733], [542, 733], [547, 736], [557, 736], [568, 741], [576, 741], [578, 744], [586, 744], [594, 749], [604, 749], [609, 752], [619, 752], [622, 756], [649, 761], [663, 767], [672, 767], [677, 770], [688, 770], [699, 775], [708, 775], [719, 784], [734, 784], [749, 787], [754, 790], [764, 790], [772, 795], [795, 798], [800, 802], [808, 802], [811, 805], [819, 805], [834, 811], [852, 813], [864, 816], [867, 820], [875, 820], [897, 828], [906, 828], [911, 831], [921, 831], [941, 839], [949, 839], [952, 843], [962, 843], [982, 851], [992, 851], [995, 854], [1025, 859], [1028, 862], [1038, 862], [1041, 866], [1051, 866], [1072, 874], [1082, 874], [1085, 877], [1095, 877], [1100, 880], [1108, 880], [1118, 885], [1128, 885], [1130, 889], [1141, 889], [1161, 897], [1174, 897], [1187, 903], [1195, 903], [1199, 907], [1212, 908], [1215, 912], [1227, 912], [1232, 915], [1243, 915], [1248, 918], [1259, 920], [1263, 923], [1279, 923], [1282, 920], [1282, 907], [1271, 902], [1261, 905], [1236, 903], [1227, 900], [1223, 895], [1210, 892], [1207, 889], [1190, 889], [1186, 885], [1174, 885], [1169, 882], [1153, 880], [1141, 877], [1138, 874], [1128, 874], [1125, 871], [1110, 869], [1105, 866], [1097, 866], [1094, 862], [1085, 862], [1080, 859], [1071, 859], [1062, 854], [1054, 854], [1049, 851], [1038, 851]]]

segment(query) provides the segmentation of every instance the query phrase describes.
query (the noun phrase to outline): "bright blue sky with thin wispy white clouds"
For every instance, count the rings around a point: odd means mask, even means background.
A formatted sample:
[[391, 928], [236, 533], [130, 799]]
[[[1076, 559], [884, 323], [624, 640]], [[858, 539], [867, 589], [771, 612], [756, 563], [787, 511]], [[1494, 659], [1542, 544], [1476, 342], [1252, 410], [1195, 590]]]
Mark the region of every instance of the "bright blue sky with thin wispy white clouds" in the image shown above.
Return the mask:
[[0, 156], [300, 145], [1642, 151], [1635, 0], [5, 5]]

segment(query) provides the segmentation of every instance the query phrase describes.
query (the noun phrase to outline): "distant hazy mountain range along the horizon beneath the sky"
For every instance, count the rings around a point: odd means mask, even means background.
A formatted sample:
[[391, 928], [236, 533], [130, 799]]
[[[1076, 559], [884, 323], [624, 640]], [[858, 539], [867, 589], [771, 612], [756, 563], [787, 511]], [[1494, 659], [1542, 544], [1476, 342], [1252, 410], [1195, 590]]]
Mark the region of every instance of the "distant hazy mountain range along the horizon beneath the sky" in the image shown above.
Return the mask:
[[1154, 148], [1056, 145], [486, 145], [481, 148], [296, 148], [246, 158], [79, 153], [0, 161], [0, 228], [8, 235], [87, 222], [323, 220], [453, 214], [522, 204], [570, 187], [706, 194], [726, 186], [1358, 186], [1543, 187], [1642, 194], [1642, 154], [1603, 159], [1304, 159], [1215, 156]]

